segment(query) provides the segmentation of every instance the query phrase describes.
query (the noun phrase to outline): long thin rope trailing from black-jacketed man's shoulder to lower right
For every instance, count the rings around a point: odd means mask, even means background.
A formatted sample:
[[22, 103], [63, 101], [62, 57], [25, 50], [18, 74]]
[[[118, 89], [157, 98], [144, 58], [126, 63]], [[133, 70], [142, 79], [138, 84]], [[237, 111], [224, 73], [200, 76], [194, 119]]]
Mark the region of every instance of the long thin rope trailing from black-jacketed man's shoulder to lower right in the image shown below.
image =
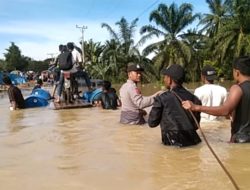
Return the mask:
[[[173, 90], [171, 90], [171, 92], [182, 102], [183, 100], [181, 99], [180, 96], [178, 96], [178, 94], [176, 94]], [[222, 169], [224, 170], [224, 172], [226, 173], [226, 175], [228, 176], [228, 178], [230, 179], [230, 181], [232, 182], [232, 184], [234, 185], [235, 189], [236, 190], [239, 190], [239, 186], [237, 185], [236, 181], [234, 180], [234, 178], [232, 177], [232, 175], [229, 173], [229, 171], [226, 169], [226, 167], [223, 165], [223, 163], [221, 162], [221, 160], [219, 159], [219, 157], [216, 155], [216, 153], [214, 152], [213, 148], [210, 146], [210, 144], [208, 143], [207, 141], [207, 138], [205, 136], [205, 134], [203, 133], [197, 119], [195, 118], [193, 112], [191, 110], [188, 110], [189, 113], [191, 114], [192, 118], [194, 119], [195, 121], [195, 124], [197, 125], [197, 127], [199, 128], [200, 132], [201, 132], [201, 135], [204, 139], [204, 141], [206, 142], [209, 150], [212, 152], [212, 154], [214, 155], [215, 159], [217, 160], [217, 162], [220, 164], [220, 166], [222, 167]]]

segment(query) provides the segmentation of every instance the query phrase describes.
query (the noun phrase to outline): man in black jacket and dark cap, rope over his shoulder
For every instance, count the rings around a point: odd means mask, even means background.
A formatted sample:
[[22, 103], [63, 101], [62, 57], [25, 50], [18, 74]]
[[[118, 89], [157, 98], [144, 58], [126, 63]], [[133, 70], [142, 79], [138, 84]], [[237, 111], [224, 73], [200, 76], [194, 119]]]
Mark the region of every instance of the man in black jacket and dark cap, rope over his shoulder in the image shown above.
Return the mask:
[[[196, 96], [182, 86], [184, 69], [178, 64], [173, 64], [164, 69], [162, 74], [168, 91], [155, 98], [149, 114], [149, 126], [157, 127], [160, 124], [164, 145], [185, 147], [200, 143], [201, 139], [196, 133], [198, 127], [181, 104], [182, 100], [201, 104]], [[200, 112], [194, 112], [194, 115], [199, 122]]]

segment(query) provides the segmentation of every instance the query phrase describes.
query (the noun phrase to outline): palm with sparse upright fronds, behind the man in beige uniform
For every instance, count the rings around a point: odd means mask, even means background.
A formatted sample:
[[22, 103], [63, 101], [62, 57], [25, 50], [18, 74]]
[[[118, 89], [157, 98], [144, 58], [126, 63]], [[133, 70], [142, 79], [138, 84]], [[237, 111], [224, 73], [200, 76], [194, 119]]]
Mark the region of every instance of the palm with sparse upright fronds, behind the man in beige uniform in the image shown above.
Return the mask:
[[102, 24], [102, 27], [106, 28], [111, 35], [111, 39], [106, 41], [103, 58], [108, 60], [111, 65], [109, 74], [114, 76], [116, 81], [122, 81], [126, 78], [127, 63], [131, 61], [144, 66], [147, 81], [154, 78], [152, 62], [141, 55], [138, 49], [139, 44], [135, 43], [134, 40], [137, 22], [138, 19], [134, 19], [129, 23], [122, 17], [115, 23], [118, 26], [118, 31], [106, 23]]

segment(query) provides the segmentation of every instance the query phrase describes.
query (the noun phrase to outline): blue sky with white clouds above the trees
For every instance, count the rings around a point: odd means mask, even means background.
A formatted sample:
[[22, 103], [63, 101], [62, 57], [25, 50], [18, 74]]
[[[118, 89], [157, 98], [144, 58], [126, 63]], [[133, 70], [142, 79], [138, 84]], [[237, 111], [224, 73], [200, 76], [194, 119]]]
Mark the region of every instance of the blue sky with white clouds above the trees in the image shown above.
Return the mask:
[[[191, 3], [194, 13], [208, 12], [205, 0], [0, 0], [0, 59], [14, 42], [22, 55], [34, 60], [56, 56], [58, 45], [74, 42], [80, 46], [82, 30], [84, 40], [105, 42], [110, 35], [102, 23], [118, 31], [115, 23], [122, 17], [131, 22], [139, 18], [139, 29], [149, 22], [150, 13], [160, 3]], [[196, 27], [196, 23], [192, 27]]]

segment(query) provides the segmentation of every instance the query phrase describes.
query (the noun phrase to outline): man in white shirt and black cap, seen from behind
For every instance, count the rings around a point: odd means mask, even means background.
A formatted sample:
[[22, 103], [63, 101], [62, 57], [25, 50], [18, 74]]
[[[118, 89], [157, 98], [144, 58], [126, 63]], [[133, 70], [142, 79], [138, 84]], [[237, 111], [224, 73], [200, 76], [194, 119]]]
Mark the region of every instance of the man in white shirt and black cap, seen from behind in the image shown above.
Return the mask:
[[[201, 100], [204, 106], [220, 106], [227, 98], [227, 90], [217, 84], [214, 84], [217, 75], [215, 69], [206, 65], [201, 70], [201, 81], [204, 85], [195, 89], [194, 94]], [[201, 113], [201, 121], [216, 121], [224, 117], [213, 116], [206, 113]]]

